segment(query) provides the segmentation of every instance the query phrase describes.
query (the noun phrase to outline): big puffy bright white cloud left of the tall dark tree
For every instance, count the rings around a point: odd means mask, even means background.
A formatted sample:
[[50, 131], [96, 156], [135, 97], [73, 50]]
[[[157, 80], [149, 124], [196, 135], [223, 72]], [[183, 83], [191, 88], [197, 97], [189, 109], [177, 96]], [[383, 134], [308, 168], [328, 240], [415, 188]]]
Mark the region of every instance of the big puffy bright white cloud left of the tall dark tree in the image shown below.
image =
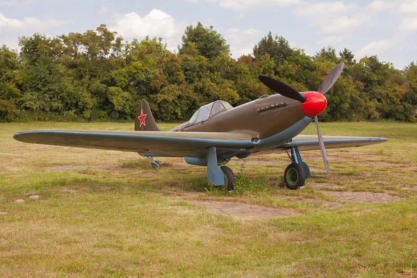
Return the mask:
[[116, 31], [124, 39], [142, 40], [146, 36], [149, 38], [163, 38], [170, 50], [177, 49], [181, 42], [181, 35], [186, 24], [177, 23], [174, 18], [163, 12], [163, 10], [153, 9], [144, 17], [137, 13], [125, 15], [113, 15], [108, 28]]

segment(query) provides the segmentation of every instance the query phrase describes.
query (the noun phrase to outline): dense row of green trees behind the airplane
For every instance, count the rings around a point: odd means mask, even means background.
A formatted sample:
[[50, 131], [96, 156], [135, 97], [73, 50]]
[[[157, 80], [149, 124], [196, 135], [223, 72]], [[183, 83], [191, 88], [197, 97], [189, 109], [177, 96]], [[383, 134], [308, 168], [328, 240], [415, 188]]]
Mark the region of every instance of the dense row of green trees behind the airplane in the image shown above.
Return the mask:
[[19, 38], [19, 47], [0, 47], [1, 122], [129, 120], [142, 98], [157, 120], [184, 121], [217, 99], [238, 106], [272, 94], [260, 74], [317, 90], [340, 62], [345, 70], [320, 120], [417, 121], [416, 63], [396, 70], [377, 56], [356, 60], [333, 47], [308, 56], [271, 33], [238, 59], [220, 33], [201, 23], [186, 27], [175, 53], [161, 38], [124, 43], [105, 25], [56, 38], [35, 33]]

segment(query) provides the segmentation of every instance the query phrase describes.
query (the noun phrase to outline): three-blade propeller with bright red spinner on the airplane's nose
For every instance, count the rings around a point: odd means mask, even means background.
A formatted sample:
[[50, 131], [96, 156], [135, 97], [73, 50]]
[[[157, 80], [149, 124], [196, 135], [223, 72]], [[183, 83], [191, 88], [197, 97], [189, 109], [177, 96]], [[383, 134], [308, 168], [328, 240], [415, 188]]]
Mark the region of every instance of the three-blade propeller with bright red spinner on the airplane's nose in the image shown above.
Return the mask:
[[272, 79], [268, 76], [259, 76], [259, 81], [265, 84], [268, 88], [274, 92], [288, 97], [290, 99], [295, 99], [301, 102], [302, 111], [308, 117], [314, 117], [314, 122], [316, 122], [318, 142], [320, 145], [320, 151], [322, 153], [323, 163], [325, 163], [325, 168], [327, 174], [330, 174], [329, 161], [327, 160], [325, 143], [320, 132], [320, 127], [318, 126], [318, 115], [325, 111], [327, 107], [327, 99], [324, 96], [330, 89], [332, 89], [334, 83], [336, 83], [339, 76], [341, 76], [344, 63], [340, 63], [334, 67], [334, 69], [327, 74], [326, 78], [322, 81], [318, 87], [317, 92], [305, 92], [302, 95], [300, 92], [295, 90], [289, 85], [282, 83], [281, 81]]

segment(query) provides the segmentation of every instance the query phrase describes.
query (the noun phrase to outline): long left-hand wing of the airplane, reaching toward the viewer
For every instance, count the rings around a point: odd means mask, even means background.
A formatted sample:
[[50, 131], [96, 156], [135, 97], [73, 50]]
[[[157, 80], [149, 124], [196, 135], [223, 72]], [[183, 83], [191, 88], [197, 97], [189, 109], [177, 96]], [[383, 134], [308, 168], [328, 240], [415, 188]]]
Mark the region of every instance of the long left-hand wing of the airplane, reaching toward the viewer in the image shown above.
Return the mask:
[[250, 134], [229, 132], [37, 130], [22, 131], [13, 137], [35, 144], [112, 149], [147, 156], [205, 156], [211, 146], [217, 147], [218, 154], [244, 152], [252, 145]]

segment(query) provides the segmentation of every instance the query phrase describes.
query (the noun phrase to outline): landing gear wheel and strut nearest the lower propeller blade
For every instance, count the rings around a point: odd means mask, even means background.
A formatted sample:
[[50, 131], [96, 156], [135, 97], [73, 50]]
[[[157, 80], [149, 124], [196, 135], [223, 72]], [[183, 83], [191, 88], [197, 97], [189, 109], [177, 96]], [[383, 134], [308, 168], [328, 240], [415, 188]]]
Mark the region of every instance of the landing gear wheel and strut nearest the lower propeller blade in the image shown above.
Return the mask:
[[[288, 154], [288, 152], [287, 152]], [[288, 154], [290, 156], [290, 154]], [[311, 177], [309, 166], [302, 161], [297, 147], [291, 147], [291, 164], [284, 172], [284, 182], [288, 189], [297, 190], [304, 186], [306, 179]]]

